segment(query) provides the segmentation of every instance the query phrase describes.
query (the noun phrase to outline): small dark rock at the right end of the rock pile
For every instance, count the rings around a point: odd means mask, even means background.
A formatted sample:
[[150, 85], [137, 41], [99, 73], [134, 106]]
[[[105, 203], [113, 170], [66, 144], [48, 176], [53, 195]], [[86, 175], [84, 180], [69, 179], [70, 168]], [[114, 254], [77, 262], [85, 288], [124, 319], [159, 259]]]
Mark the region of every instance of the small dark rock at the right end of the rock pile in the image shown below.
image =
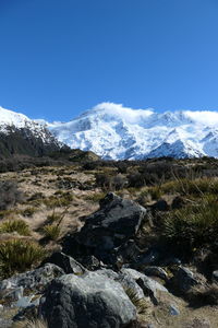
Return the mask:
[[199, 273], [193, 273], [190, 269], [182, 266], [172, 278], [173, 286], [182, 294], [187, 294], [194, 286], [199, 286], [205, 283], [206, 279], [204, 278], [204, 276]]

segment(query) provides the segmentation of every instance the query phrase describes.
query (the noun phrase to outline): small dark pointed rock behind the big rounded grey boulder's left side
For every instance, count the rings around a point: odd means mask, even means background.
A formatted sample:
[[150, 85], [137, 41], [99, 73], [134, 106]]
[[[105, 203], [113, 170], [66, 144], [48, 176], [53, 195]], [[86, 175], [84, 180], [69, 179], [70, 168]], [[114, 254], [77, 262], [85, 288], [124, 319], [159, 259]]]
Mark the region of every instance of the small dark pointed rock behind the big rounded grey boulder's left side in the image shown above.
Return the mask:
[[74, 258], [60, 251], [53, 253], [43, 262], [43, 265], [44, 263], [53, 263], [61, 268], [65, 273], [83, 274], [86, 271], [86, 269], [74, 260]]

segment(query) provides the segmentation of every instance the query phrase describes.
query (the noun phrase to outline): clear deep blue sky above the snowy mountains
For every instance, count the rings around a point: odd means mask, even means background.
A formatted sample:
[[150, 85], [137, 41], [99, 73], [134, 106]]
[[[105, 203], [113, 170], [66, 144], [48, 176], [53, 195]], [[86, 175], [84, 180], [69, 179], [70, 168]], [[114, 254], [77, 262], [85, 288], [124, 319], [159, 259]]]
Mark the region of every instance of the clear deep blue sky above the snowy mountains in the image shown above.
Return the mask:
[[0, 0], [0, 105], [218, 110], [217, 0]]

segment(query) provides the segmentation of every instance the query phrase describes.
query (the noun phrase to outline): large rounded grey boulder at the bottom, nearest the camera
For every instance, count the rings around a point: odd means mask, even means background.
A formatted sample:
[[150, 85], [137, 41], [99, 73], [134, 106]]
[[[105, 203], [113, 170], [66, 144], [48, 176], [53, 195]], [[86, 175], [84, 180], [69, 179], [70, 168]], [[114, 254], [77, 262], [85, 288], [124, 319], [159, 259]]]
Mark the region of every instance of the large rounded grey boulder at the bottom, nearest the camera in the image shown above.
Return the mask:
[[119, 328], [136, 319], [136, 309], [122, 286], [97, 272], [53, 280], [39, 313], [49, 328]]

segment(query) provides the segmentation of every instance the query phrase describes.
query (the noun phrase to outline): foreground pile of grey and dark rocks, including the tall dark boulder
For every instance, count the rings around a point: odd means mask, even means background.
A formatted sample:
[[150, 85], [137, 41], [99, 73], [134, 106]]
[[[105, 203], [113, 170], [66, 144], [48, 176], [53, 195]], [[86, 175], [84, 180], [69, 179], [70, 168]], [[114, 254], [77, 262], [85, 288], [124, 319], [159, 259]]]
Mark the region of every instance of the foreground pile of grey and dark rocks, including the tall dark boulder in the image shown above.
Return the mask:
[[[179, 259], [140, 247], [138, 232], [148, 219], [141, 206], [108, 194], [82, 230], [63, 239], [62, 251], [0, 282], [0, 317], [16, 309], [0, 327], [38, 317], [48, 328], [213, 327], [202, 318], [194, 318], [198, 326], [189, 318], [181, 326], [184, 302], [207, 281]], [[164, 262], [172, 262], [172, 270]]]

